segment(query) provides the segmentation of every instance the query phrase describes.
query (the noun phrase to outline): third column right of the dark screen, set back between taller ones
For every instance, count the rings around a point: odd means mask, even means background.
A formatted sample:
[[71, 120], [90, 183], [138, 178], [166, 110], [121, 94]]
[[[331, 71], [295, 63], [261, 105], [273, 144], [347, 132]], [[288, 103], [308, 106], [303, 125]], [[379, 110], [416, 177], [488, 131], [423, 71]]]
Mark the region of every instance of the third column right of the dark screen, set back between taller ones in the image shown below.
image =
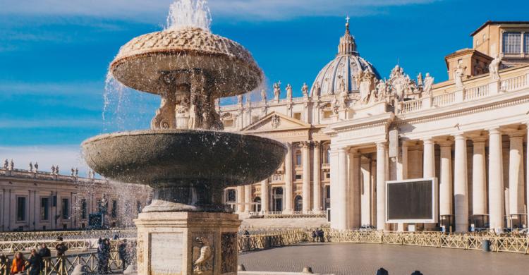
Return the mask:
[[487, 214], [487, 175], [485, 162], [485, 137], [474, 138], [472, 157], [472, 209], [473, 214]]

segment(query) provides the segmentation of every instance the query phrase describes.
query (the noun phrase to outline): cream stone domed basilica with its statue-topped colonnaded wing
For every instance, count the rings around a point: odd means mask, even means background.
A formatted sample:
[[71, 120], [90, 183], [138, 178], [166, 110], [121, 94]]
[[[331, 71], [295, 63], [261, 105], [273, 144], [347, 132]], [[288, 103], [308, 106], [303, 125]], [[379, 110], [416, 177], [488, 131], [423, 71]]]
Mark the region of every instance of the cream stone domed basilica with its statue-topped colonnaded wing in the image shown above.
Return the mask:
[[226, 130], [288, 148], [272, 177], [226, 189], [226, 203], [242, 216], [330, 209], [332, 228], [403, 231], [386, 223], [386, 181], [437, 178], [437, 226], [527, 227], [529, 22], [488, 21], [470, 36], [472, 49], [445, 57], [449, 80], [399, 66], [383, 78], [347, 23], [338, 53], [302, 97], [277, 82], [273, 98], [263, 91], [258, 102], [241, 96], [218, 107]]

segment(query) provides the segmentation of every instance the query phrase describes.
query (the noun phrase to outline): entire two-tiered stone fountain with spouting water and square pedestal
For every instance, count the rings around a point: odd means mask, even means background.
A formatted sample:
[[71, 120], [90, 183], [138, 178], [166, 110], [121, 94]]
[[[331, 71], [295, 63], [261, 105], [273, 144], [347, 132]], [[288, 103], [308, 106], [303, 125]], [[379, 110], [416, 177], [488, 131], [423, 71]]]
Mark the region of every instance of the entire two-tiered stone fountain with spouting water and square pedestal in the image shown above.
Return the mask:
[[236, 274], [241, 221], [222, 190], [262, 181], [286, 154], [280, 142], [221, 131], [217, 99], [254, 90], [263, 74], [240, 44], [209, 31], [204, 4], [176, 1], [170, 18], [189, 20], [130, 40], [110, 64], [118, 82], [161, 97], [151, 129], [82, 145], [97, 173], [154, 190], [135, 219], [138, 274]]

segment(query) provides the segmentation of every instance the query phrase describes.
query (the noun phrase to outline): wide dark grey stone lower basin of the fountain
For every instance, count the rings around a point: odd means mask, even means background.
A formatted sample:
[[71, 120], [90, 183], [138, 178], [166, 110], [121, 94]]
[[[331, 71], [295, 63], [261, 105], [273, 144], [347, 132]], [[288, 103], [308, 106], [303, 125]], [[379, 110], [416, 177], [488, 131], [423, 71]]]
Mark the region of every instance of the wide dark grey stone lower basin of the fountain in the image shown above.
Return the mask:
[[83, 142], [87, 164], [116, 181], [204, 183], [221, 186], [256, 183], [281, 165], [281, 142], [210, 130], [138, 130], [98, 135]]

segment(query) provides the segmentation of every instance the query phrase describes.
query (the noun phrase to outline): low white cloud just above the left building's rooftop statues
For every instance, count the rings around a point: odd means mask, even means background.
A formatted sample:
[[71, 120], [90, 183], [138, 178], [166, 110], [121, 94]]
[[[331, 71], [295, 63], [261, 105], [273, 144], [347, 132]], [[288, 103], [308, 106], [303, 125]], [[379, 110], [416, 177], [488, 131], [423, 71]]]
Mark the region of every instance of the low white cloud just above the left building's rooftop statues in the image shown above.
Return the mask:
[[0, 160], [13, 159], [15, 169], [28, 169], [38, 162], [39, 171], [50, 171], [51, 165], [59, 165], [59, 172], [69, 175], [72, 167], [78, 167], [79, 175], [87, 174], [87, 165], [81, 156], [80, 145], [34, 145], [0, 147]]

